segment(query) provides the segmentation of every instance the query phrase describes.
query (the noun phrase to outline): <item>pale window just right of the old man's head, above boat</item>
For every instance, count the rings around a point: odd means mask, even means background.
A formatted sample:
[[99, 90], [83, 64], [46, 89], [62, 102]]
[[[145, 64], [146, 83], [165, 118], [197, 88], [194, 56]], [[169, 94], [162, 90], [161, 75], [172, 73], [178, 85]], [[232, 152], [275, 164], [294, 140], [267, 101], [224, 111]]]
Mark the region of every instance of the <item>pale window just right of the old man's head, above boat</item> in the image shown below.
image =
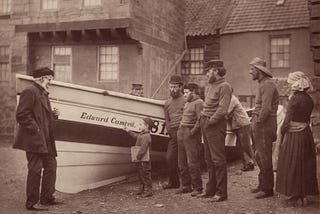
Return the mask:
[[55, 79], [64, 82], [71, 82], [71, 47], [53, 47], [53, 70]]

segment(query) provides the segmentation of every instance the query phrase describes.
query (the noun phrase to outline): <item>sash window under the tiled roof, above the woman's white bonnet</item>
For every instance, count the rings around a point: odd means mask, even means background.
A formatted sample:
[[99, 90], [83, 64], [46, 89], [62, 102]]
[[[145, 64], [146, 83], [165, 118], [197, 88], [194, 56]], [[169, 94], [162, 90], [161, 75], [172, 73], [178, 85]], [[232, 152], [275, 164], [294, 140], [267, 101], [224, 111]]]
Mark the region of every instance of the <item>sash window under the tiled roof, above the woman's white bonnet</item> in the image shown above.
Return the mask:
[[271, 37], [271, 68], [290, 67], [290, 37]]

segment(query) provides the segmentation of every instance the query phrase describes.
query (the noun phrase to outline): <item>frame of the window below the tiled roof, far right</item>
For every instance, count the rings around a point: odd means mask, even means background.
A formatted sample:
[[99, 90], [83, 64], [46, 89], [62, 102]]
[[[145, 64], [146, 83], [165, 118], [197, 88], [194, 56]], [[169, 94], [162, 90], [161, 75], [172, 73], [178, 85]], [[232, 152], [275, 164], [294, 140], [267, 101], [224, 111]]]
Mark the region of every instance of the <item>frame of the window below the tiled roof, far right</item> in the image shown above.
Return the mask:
[[[289, 45], [288, 45], [288, 51], [283, 50], [282, 52], [273, 52], [272, 51], [272, 41], [273, 39], [288, 39], [289, 40]], [[277, 45], [276, 47], [278, 47]], [[287, 54], [288, 59], [285, 59], [285, 55]], [[279, 61], [279, 55], [283, 56], [284, 64], [287, 61], [288, 65], [274, 65], [274, 59], [273, 55], [278, 55], [277, 57], [277, 64]], [[289, 69], [291, 67], [291, 35], [290, 34], [279, 34], [279, 35], [271, 35], [269, 38], [269, 59], [270, 59], [270, 68], [271, 69]]]

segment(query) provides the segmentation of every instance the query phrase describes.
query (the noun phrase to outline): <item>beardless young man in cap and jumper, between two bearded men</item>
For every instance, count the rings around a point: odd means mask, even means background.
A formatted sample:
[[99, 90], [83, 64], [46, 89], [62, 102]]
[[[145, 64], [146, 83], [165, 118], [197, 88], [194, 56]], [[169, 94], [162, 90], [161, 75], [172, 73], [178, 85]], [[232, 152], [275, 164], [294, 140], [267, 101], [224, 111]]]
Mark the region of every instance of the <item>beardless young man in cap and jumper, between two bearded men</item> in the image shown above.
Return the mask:
[[199, 118], [203, 101], [199, 97], [199, 86], [189, 83], [183, 87], [187, 103], [184, 106], [182, 120], [178, 129], [178, 163], [182, 188], [177, 193], [189, 193], [197, 196], [202, 193], [200, 170], [201, 130]]

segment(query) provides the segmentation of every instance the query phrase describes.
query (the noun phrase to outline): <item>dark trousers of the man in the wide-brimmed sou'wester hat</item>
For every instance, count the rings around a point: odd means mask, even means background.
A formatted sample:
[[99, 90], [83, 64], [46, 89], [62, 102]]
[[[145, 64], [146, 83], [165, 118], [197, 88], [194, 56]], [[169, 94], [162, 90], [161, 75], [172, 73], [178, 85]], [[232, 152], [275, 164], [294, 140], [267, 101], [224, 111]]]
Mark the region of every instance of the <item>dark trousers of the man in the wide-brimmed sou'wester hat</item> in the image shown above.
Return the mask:
[[272, 167], [272, 142], [276, 140], [277, 118], [269, 117], [263, 124], [257, 123], [257, 116], [252, 119], [252, 136], [255, 159], [260, 169], [259, 189], [263, 192], [273, 191], [274, 176]]

